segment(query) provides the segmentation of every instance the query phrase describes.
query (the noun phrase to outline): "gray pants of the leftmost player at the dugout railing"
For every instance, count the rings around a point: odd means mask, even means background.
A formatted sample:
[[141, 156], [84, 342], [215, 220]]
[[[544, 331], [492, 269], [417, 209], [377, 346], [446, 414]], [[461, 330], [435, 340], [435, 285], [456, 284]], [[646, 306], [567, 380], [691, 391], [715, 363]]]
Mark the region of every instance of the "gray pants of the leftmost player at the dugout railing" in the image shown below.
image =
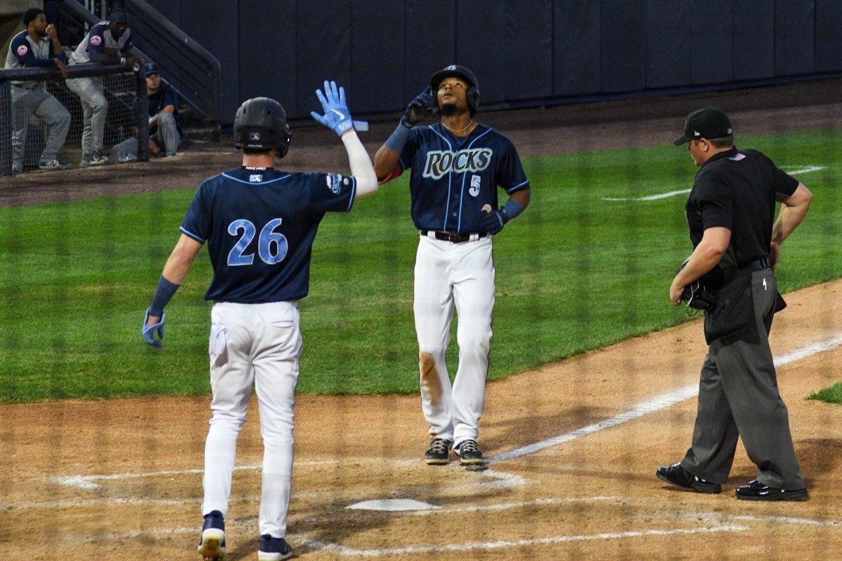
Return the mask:
[[70, 130], [70, 112], [58, 99], [43, 87], [32, 89], [12, 86], [12, 162], [13, 167], [23, 166], [24, 146], [29, 116], [35, 114], [47, 124], [47, 143], [41, 153], [40, 161], [56, 159], [67, 131]]

